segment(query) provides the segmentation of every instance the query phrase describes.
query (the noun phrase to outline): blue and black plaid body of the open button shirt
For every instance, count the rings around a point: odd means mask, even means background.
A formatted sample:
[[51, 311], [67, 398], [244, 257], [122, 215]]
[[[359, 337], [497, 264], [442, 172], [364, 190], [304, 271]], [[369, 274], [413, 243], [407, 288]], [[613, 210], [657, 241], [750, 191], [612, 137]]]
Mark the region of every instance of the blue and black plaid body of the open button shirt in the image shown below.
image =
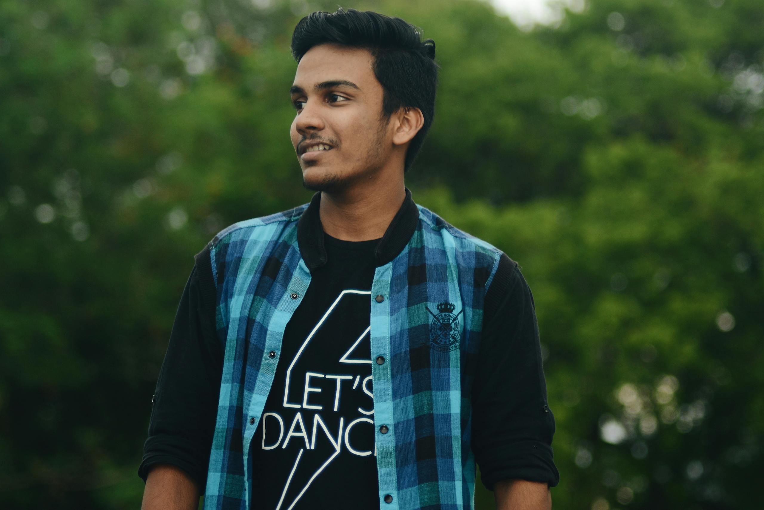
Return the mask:
[[[237, 223], [211, 242], [225, 359], [205, 508], [257, 509], [250, 446], [286, 323], [310, 283], [296, 234], [307, 206]], [[501, 252], [416, 207], [413, 236], [376, 268], [371, 288], [371, 357], [386, 360], [372, 364], [380, 508], [473, 508], [469, 395]]]

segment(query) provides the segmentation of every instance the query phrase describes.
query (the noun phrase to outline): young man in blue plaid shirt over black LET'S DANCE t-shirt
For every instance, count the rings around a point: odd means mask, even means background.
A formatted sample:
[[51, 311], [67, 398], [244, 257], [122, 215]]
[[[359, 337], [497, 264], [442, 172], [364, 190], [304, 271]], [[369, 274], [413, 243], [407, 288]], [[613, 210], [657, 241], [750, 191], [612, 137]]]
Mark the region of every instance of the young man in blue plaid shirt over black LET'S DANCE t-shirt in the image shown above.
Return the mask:
[[139, 474], [144, 508], [550, 508], [554, 418], [515, 262], [416, 205], [435, 44], [374, 12], [297, 25], [293, 210], [196, 256]]

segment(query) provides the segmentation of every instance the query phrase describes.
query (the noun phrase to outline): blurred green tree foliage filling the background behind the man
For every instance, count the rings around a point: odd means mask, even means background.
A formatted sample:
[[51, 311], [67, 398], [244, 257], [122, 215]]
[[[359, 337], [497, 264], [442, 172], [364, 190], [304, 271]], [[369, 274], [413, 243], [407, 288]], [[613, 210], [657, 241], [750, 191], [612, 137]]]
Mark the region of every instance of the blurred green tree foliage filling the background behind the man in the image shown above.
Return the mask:
[[[349, 2], [442, 66], [418, 203], [520, 262], [555, 508], [753, 508], [764, 469], [764, 9], [591, 0], [524, 32]], [[0, 4], [0, 499], [138, 508], [177, 300], [223, 226], [309, 200], [291, 31], [334, 2]], [[478, 484], [478, 508], [493, 508]]]

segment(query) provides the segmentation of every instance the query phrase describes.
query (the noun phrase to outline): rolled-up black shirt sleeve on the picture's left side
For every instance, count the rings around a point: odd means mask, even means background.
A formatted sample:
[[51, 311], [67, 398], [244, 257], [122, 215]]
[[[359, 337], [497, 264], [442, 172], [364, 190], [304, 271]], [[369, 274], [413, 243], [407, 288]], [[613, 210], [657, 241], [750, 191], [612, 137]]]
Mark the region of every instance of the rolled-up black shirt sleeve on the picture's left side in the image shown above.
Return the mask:
[[173, 464], [204, 494], [222, 376], [222, 343], [215, 327], [215, 283], [209, 250], [196, 256], [186, 281], [152, 398], [148, 438], [138, 476]]

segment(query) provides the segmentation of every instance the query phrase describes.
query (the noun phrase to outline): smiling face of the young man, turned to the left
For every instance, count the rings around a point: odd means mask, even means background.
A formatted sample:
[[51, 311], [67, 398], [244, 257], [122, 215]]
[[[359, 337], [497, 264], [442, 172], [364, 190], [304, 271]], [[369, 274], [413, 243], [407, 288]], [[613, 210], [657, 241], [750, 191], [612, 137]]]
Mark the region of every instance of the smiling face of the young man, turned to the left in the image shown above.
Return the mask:
[[[383, 89], [371, 63], [367, 50], [335, 44], [312, 47], [299, 61], [290, 136], [309, 190], [347, 189], [390, 156], [392, 133], [381, 118]], [[319, 142], [329, 151], [316, 151]]]

